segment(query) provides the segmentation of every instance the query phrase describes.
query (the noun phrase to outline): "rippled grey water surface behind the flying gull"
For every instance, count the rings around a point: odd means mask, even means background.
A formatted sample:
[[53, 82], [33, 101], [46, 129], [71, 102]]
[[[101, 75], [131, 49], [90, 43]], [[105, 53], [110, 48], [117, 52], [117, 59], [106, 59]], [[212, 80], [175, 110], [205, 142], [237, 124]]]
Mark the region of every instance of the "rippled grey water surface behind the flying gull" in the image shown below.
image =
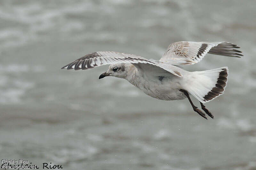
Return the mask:
[[[256, 1], [1, 0], [0, 158], [63, 169], [256, 169]], [[60, 70], [95, 51], [159, 59], [175, 41], [228, 41], [184, 69], [229, 67], [204, 120], [108, 69]], [[193, 98], [195, 105], [199, 102]]]

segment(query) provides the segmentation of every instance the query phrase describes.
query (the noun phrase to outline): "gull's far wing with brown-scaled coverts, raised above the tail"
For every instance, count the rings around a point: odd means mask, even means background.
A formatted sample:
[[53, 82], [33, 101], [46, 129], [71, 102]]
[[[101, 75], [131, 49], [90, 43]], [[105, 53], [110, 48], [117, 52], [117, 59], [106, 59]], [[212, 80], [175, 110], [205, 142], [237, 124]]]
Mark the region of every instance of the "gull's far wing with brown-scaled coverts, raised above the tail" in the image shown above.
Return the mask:
[[231, 57], [243, 56], [242, 52], [236, 48], [240, 47], [229, 42], [174, 42], [170, 44], [159, 61], [189, 65], [200, 62], [207, 53]]

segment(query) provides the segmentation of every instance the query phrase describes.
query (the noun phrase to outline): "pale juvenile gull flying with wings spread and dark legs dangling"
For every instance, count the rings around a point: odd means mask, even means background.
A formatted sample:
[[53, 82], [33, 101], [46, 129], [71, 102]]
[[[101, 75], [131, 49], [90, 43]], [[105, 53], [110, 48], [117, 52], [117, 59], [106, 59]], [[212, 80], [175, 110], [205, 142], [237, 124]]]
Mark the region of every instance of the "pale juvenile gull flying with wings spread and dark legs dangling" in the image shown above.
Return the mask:
[[[186, 71], [182, 65], [200, 62], [207, 53], [241, 57], [240, 48], [229, 42], [179, 41], [169, 45], [159, 61], [139, 55], [113, 51], [87, 54], [61, 69], [87, 70], [110, 64], [108, 71], [99, 79], [114, 76], [124, 78], [147, 95], [159, 100], [182, 100], [188, 98], [193, 110], [207, 119], [212, 113], [203, 103], [223, 94], [228, 83], [228, 67], [205, 71]], [[189, 94], [199, 100], [202, 110], [191, 101]]]

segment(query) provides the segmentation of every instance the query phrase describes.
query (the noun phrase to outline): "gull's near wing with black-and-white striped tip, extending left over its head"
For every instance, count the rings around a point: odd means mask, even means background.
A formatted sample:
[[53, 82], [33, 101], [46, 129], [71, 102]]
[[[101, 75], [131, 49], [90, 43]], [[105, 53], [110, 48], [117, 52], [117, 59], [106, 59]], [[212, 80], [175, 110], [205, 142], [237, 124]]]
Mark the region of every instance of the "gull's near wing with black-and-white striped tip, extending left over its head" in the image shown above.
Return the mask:
[[175, 76], [182, 77], [182, 74], [177, 70], [179, 68], [175, 66], [170, 67], [153, 59], [148, 60], [138, 55], [113, 51], [100, 51], [87, 54], [72, 63], [65, 65], [61, 69], [87, 70], [101, 65], [115, 63], [132, 63], [137, 69], [143, 71], [145, 74], [158, 74], [161, 76], [170, 75], [171, 73]]

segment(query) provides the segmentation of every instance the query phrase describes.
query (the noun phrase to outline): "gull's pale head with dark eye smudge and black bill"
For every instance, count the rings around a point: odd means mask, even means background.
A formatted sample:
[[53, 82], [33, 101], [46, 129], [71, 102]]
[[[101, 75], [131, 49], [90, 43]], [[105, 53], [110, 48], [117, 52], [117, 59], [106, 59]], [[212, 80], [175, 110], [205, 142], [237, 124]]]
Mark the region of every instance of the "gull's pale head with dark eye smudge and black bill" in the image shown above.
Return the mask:
[[132, 65], [131, 63], [117, 63], [117, 64], [111, 64], [108, 67], [108, 71], [105, 73], [102, 73], [99, 77], [99, 79], [107, 77], [107, 76], [114, 76], [117, 78], [125, 78], [127, 76], [127, 72], [129, 69], [129, 66]]

